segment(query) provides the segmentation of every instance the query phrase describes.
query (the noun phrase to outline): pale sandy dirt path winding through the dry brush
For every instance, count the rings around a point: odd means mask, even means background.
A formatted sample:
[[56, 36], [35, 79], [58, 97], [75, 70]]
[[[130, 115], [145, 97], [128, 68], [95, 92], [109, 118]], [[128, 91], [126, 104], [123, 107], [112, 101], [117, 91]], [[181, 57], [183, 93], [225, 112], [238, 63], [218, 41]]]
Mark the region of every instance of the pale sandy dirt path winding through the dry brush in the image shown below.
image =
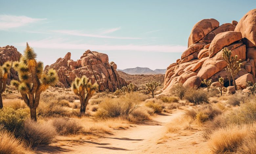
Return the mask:
[[[172, 120], [182, 116], [183, 110], [175, 110], [172, 114], [161, 114], [153, 118], [152, 121], [132, 127], [127, 130], [115, 130], [114, 135], [109, 135], [97, 140], [86, 141], [86, 144], [74, 145], [68, 147], [63, 153], [198, 153], [197, 148], [206, 146], [203, 140], [200, 140], [199, 133], [190, 133], [191, 136], [176, 134], [175, 137], [168, 139], [165, 143], [157, 144], [159, 139], [165, 134], [165, 125]], [[177, 137], [180, 136], [180, 137]], [[198, 140], [199, 138], [199, 140]], [[175, 141], [177, 140], [177, 141]], [[189, 145], [190, 140], [196, 140]], [[186, 150], [182, 150], [182, 146]], [[188, 147], [186, 147], [188, 146]], [[191, 151], [194, 146], [194, 151]], [[199, 149], [200, 150], [200, 149]], [[201, 150], [200, 150], [201, 151]], [[60, 152], [60, 151], [59, 151]], [[61, 153], [61, 152], [60, 152]]]

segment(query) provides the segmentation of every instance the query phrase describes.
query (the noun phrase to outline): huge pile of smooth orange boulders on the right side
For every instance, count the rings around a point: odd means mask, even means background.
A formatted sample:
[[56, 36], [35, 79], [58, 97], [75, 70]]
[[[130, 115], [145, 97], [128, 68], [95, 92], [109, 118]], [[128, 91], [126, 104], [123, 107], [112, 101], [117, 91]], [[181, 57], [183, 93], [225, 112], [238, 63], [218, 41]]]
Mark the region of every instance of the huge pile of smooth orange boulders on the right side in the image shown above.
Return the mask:
[[[245, 88], [243, 81], [255, 80], [256, 65], [256, 9], [250, 10], [239, 21], [219, 25], [215, 19], [203, 19], [195, 24], [188, 48], [181, 59], [167, 67], [163, 90], [169, 92], [177, 83], [183, 86], [200, 87], [204, 79], [218, 81], [220, 77], [228, 82], [226, 62], [222, 58], [224, 48], [231, 50], [231, 56], [238, 55], [242, 68], [235, 76], [239, 88]], [[251, 74], [251, 75], [248, 75]], [[246, 78], [246, 79], [244, 79]]]

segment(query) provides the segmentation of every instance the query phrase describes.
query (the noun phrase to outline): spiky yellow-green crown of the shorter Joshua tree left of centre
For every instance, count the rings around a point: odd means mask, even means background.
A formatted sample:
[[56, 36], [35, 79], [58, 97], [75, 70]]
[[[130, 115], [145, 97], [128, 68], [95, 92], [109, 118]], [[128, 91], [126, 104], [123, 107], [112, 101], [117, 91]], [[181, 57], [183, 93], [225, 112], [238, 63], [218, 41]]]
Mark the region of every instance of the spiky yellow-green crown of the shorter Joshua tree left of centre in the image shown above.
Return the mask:
[[82, 76], [81, 78], [76, 77], [71, 86], [73, 92], [78, 96], [84, 92], [89, 95], [93, 95], [99, 89], [98, 84], [92, 84], [91, 80], [89, 80], [86, 76]]

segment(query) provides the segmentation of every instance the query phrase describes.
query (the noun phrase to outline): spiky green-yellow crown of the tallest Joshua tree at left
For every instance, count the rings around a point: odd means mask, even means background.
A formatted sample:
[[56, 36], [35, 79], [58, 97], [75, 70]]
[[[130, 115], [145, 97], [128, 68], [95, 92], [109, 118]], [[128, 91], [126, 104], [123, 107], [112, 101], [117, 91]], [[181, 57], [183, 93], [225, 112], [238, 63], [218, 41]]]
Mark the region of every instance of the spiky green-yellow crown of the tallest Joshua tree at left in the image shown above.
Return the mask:
[[41, 93], [58, 82], [58, 75], [55, 70], [43, 71], [43, 62], [36, 61], [36, 53], [28, 43], [20, 61], [13, 62], [12, 67], [18, 72], [19, 81], [12, 80], [11, 85], [21, 93], [28, 94], [37, 90]]

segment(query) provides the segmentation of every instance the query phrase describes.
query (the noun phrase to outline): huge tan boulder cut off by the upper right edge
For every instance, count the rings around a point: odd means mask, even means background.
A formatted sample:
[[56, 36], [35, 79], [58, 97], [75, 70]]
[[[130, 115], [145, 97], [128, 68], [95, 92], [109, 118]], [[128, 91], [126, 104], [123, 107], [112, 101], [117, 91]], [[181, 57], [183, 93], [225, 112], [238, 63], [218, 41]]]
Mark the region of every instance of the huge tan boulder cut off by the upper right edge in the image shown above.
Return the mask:
[[241, 32], [246, 47], [256, 47], [256, 9], [247, 12], [236, 25], [235, 31]]

